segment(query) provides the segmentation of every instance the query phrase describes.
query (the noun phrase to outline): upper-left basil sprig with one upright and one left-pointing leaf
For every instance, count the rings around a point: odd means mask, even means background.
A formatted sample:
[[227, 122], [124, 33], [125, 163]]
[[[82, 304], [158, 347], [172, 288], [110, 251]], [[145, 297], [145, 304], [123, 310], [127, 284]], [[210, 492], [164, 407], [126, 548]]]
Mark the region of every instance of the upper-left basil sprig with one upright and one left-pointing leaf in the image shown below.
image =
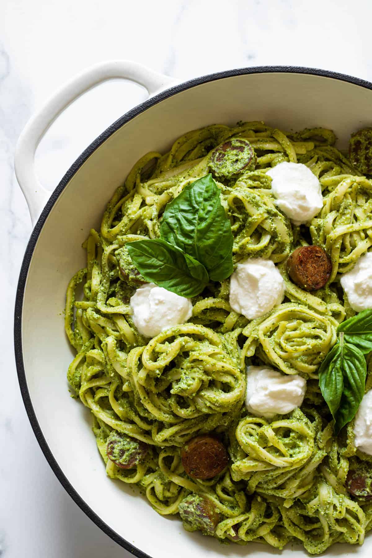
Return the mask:
[[233, 272], [233, 233], [212, 175], [187, 185], [163, 214], [160, 236], [126, 244], [147, 281], [177, 295], [199, 295]]

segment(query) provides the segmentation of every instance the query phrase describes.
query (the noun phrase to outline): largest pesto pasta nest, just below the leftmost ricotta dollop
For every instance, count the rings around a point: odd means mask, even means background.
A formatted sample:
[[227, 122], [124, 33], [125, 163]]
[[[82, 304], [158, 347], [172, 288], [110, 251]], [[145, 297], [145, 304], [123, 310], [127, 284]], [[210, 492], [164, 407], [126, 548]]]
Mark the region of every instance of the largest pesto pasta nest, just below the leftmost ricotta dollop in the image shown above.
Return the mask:
[[168, 436], [185, 419], [234, 410], [245, 377], [226, 342], [202, 325], [183, 324], [132, 349], [127, 364], [138, 412], [166, 423]]

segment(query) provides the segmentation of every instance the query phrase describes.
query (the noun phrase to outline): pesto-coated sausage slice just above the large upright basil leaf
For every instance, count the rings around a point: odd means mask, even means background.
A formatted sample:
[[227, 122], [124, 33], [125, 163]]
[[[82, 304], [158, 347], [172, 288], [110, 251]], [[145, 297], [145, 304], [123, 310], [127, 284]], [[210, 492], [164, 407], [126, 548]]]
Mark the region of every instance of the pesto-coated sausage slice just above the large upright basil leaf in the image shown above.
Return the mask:
[[232, 178], [245, 170], [253, 170], [256, 161], [249, 141], [235, 138], [221, 143], [212, 151], [209, 166], [216, 176]]

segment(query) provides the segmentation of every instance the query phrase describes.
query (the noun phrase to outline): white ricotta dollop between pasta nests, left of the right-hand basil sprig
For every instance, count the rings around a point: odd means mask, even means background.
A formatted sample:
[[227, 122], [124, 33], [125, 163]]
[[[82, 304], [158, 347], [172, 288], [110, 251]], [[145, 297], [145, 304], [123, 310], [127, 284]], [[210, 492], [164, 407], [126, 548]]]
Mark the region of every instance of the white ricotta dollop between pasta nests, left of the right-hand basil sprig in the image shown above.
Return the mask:
[[245, 406], [252, 415], [272, 419], [300, 407], [305, 397], [306, 380], [282, 374], [269, 366], [247, 366]]

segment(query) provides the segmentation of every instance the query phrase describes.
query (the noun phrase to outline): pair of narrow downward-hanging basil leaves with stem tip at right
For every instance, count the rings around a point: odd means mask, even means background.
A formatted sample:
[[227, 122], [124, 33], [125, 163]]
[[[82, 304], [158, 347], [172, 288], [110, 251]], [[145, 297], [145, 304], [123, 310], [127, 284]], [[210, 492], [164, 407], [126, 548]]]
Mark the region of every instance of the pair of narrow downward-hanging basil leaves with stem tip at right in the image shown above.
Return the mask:
[[322, 396], [335, 419], [335, 431], [350, 422], [363, 399], [366, 378], [364, 354], [354, 345], [346, 343], [344, 334], [330, 350], [319, 368]]

